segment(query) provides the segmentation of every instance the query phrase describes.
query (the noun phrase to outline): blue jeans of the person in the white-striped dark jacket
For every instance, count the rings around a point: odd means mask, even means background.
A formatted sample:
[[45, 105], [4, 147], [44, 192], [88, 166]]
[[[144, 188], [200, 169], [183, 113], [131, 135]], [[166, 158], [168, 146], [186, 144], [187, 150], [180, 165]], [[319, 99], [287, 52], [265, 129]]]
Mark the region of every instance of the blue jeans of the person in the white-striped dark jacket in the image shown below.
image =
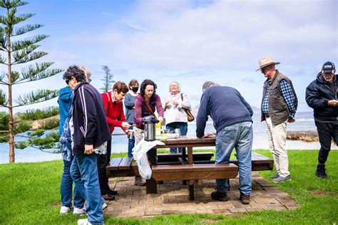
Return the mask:
[[71, 177], [78, 192], [87, 200], [86, 212], [92, 224], [103, 224], [102, 197], [98, 184], [97, 155], [75, 155], [71, 164]]

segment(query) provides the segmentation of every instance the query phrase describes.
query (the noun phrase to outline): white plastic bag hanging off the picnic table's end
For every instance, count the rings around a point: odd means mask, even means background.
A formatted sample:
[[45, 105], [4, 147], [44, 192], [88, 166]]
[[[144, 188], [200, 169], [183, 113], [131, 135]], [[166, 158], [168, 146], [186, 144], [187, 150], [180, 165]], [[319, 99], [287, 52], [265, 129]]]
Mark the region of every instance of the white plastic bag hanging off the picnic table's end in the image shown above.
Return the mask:
[[150, 179], [152, 171], [148, 162], [147, 152], [155, 145], [164, 145], [163, 142], [158, 140], [146, 142], [144, 138], [138, 142], [138, 145], [133, 147], [133, 158], [138, 163], [138, 172], [144, 179]]

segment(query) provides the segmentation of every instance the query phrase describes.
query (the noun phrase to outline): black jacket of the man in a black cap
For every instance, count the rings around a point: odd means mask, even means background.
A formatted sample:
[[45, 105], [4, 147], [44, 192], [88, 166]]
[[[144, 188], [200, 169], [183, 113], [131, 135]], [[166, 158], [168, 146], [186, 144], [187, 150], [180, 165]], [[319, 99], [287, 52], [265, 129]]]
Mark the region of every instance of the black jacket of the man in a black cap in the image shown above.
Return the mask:
[[318, 73], [317, 79], [307, 86], [305, 99], [307, 105], [313, 108], [315, 119], [338, 122], [338, 107], [327, 105], [329, 100], [338, 100], [337, 88], [337, 75], [334, 75], [334, 83], [330, 85], [324, 80], [322, 73]]

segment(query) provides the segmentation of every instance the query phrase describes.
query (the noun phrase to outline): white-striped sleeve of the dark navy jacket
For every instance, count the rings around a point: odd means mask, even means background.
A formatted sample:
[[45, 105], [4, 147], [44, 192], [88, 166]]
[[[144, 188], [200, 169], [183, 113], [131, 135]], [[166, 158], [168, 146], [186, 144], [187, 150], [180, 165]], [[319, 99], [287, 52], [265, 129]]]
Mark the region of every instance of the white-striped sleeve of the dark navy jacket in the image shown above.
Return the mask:
[[86, 145], [93, 145], [93, 138], [96, 134], [98, 121], [96, 120], [96, 103], [93, 95], [84, 85], [78, 90], [80, 108], [83, 113], [83, 126], [80, 127]]

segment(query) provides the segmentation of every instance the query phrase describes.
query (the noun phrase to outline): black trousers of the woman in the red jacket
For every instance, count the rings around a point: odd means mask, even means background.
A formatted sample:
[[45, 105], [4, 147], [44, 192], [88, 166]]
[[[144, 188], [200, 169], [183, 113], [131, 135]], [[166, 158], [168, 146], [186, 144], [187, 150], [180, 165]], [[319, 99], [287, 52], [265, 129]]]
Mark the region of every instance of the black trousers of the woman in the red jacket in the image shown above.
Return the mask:
[[107, 142], [107, 153], [98, 155], [98, 182], [100, 183], [101, 195], [108, 194], [109, 185], [106, 174], [106, 166], [111, 162], [111, 140]]

